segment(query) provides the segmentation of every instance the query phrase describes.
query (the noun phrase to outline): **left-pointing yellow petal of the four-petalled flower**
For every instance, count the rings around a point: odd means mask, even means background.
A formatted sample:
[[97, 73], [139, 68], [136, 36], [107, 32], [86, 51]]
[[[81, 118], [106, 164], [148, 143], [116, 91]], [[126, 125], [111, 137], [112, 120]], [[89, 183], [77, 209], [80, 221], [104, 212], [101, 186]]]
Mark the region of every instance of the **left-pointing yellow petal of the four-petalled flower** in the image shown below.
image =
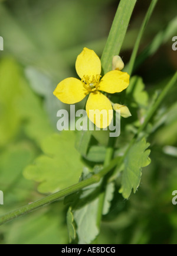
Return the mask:
[[83, 100], [89, 92], [76, 78], [66, 78], [57, 85], [53, 94], [63, 103], [74, 104]]

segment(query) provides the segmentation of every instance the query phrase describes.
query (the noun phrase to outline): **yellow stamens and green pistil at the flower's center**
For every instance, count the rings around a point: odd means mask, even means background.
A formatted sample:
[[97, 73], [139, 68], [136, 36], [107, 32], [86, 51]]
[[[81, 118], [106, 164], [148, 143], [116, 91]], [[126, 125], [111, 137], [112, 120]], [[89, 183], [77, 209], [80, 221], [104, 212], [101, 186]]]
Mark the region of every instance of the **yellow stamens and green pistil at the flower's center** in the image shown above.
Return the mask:
[[83, 78], [81, 79], [81, 82], [83, 83], [83, 86], [85, 89], [87, 89], [87, 91], [89, 92], [94, 92], [97, 89], [99, 89], [99, 81], [100, 81], [100, 75], [96, 75], [96, 76], [83, 76]]

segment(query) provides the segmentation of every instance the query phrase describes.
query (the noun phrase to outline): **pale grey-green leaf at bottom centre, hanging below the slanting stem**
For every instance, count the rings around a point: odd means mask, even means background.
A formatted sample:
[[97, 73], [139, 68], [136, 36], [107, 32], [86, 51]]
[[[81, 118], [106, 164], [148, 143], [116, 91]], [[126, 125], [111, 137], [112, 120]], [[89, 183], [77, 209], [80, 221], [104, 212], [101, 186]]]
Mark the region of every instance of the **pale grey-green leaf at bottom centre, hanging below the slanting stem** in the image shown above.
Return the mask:
[[[101, 168], [102, 167], [99, 166], [94, 168], [94, 173], [99, 172]], [[86, 180], [90, 176], [89, 169], [84, 168], [80, 181]], [[100, 183], [90, 185], [81, 190], [80, 193], [75, 194], [76, 197], [71, 209], [74, 222], [76, 223], [78, 244], [90, 244], [99, 234], [99, 228], [97, 227], [97, 210], [99, 204], [98, 188]], [[72, 225], [71, 222], [69, 224]], [[70, 225], [68, 227], [69, 230]]]

